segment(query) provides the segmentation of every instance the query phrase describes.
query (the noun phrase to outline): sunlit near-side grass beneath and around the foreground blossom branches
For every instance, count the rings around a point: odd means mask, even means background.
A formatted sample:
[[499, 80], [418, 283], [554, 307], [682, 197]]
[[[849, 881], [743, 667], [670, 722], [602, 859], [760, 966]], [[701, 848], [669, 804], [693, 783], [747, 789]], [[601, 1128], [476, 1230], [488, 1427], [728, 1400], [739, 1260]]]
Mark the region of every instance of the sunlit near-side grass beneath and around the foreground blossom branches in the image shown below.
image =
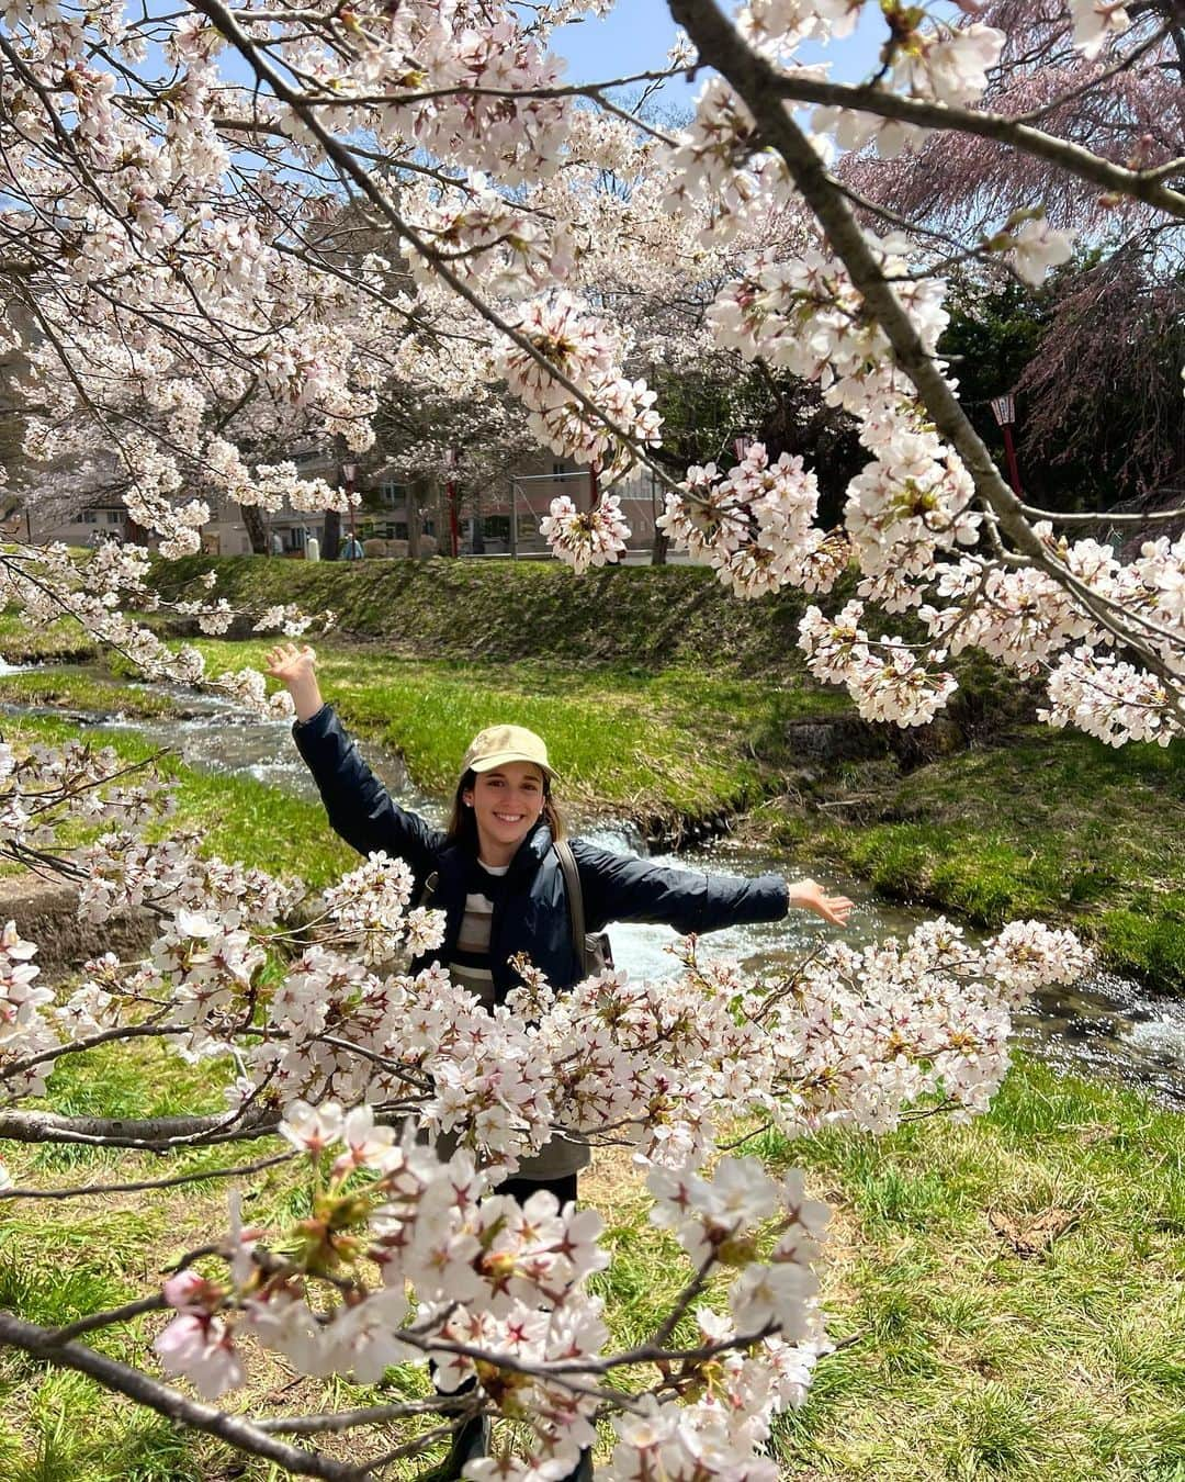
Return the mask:
[[[144, 1045], [65, 1063], [59, 1110], [154, 1114], [216, 1107], [210, 1070]], [[1021, 1063], [991, 1113], [942, 1117], [884, 1138], [831, 1132], [750, 1150], [809, 1174], [835, 1211], [824, 1277], [834, 1337], [806, 1408], [776, 1451], [788, 1479], [1175, 1482], [1185, 1472], [1185, 1141], [1182, 1119], [1108, 1086]], [[201, 1150], [169, 1165], [209, 1171], [268, 1152]], [[24, 1149], [21, 1186], [160, 1177], [157, 1160], [86, 1149]], [[680, 1279], [668, 1237], [619, 1156], [582, 1180], [606, 1212], [613, 1264], [600, 1277], [618, 1341], [640, 1335]], [[225, 1183], [3, 1209], [0, 1304], [47, 1325], [118, 1304], [225, 1227]], [[271, 1169], [253, 1223], [299, 1211], [290, 1168]], [[1040, 1217], [1062, 1229], [1043, 1245]], [[1035, 1245], [1021, 1255], [1018, 1246]], [[92, 1341], [154, 1365], [160, 1316]], [[382, 1399], [422, 1393], [393, 1369]], [[271, 1412], [366, 1403], [375, 1392], [295, 1380], [267, 1360], [246, 1395]], [[0, 1353], [0, 1475], [7, 1482], [274, 1482], [213, 1442], [136, 1414], [77, 1374]], [[388, 1438], [395, 1443], [398, 1436]], [[350, 1449], [347, 1442], [341, 1443]], [[353, 1452], [351, 1452], [353, 1454]], [[410, 1466], [403, 1476], [412, 1478]]]

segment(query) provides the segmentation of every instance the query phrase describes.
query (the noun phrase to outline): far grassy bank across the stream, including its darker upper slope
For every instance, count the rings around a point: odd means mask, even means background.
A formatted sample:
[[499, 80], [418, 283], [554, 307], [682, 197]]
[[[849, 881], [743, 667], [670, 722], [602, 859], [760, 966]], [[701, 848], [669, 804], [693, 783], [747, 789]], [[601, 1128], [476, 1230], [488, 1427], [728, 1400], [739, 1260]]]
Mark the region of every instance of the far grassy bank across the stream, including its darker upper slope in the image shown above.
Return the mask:
[[[172, 596], [210, 568], [233, 602], [339, 614], [358, 636], [318, 642], [326, 692], [428, 791], [447, 791], [474, 731], [515, 720], [547, 735], [566, 796], [655, 837], [748, 814], [741, 827], [792, 858], [834, 860], [884, 894], [987, 926], [1068, 922], [1117, 969], [1185, 988], [1181, 742], [1111, 751], [1035, 728], [1027, 689], [966, 659], [952, 722], [904, 737], [864, 728], [856, 754], [880, 754], [847, 760], [852, 708], [806, 676], [794, 643], [804, 599], [739, 603], [687, 566], [576, 579], [530, 562], [196, 557], [156, 579]], [[56, 625], [28, 642], [52, 657], [71, 637]], [[267, 648], [197, 643], [212, 667], [258, 662]], [[28, 657], [12, 618], [0, 652]], [[111, 698], [81, 676], [0, 685], [0, 697], [50, 695], [77, 708]]]

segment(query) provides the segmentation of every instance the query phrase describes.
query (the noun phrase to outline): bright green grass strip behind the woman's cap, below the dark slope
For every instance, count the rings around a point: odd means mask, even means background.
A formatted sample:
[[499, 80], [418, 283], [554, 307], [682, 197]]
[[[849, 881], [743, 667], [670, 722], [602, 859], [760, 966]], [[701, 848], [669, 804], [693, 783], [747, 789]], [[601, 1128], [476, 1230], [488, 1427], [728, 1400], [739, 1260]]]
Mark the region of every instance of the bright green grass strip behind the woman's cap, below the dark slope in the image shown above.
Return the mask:
[[[196, 640], [212, 673], [261, 665], [268, 643]], [[846, 708], [834, 691], [778, 688], [622, 664], [416, 661], [317, 645], [321, 685], [361, 738], [403, 754], [418, 787], [446, 794], [473, 735], [495, 722], [548, 738], [563, 794], [584, 809], [637, 820], [662, 837], [744, 812], [778, 787], [785, 729]], [[0, 700], [105, 714], [157, 716], [184, 701], [87, 667], [0, 677]]]

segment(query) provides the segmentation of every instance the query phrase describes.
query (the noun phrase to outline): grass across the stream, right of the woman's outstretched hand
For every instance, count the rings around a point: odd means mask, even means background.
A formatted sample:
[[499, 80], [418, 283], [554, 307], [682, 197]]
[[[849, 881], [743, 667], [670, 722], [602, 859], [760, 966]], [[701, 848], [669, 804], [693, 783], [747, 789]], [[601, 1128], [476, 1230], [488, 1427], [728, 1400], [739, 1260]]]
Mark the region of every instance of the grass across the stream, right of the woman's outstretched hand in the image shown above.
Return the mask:
[[[1068, 922], [1121, 971], [1185, 987], [1185, 747], [1029, 728], [905, 777], [852, 768], [843, 824], [776, 817], [770, 837], [840, 860], [896, 900], [981, 926]], [[855, 814], [855, 817], [853, 817]], [[834, 815], [832, 815], [834, 818]]]

